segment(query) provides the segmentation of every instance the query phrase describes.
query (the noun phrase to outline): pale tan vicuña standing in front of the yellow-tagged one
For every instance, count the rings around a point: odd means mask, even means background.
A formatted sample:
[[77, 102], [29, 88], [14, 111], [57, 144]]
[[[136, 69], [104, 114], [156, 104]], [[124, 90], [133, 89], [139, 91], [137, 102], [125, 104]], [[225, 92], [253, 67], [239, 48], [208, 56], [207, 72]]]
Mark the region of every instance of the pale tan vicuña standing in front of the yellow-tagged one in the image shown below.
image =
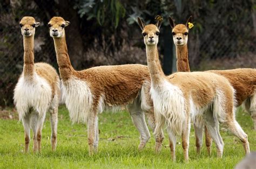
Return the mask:
[[[138, 23], [143, 31], [151, 76], [151, 97], [157, 123], [154, 133], [157, 137], [160, 129], [163, 128], [165, 121], [167, 121], [173, 160], [175, 160], [176, 143], [176, 139], [173, 139], [173, 137], [179, 132], [181, 132], [181, 138], [183, 139], [184, 158], [186, 161], [188, 160], [190, 116], [199, 115], [197, 111], [194, 111], [196, 109], [203, 110], [200, 116], [203, 116], [206, 124], [211, 127], [211, 133], [217, 144], [218, 157], [222, 156], [223, 141], [219, 135], [217, 121], [226, 123], [228, 128], [241, 139], [245, 152], [250, 152], [247, 136], [234, 118], [233, 88], [227, 79], [214, 73], [205, 72], [180, 72], [164, 76], [163, 71], [159, 69], [157, 52], [160, 25], [151, 24], [145, 26], [140, 18], [138, 18]], [[166, 105], [166, 102], [171, 102], [172, 105]], [[219, 107], [223, 107], [223, 109]], [[211, 113], [208, 114], [206, 112]], [[224, 117], [220, 118], [220, 116]], [[218, 119], [214, 120], [214, 118]], [[213, 125], [212, 123], [216, 124]], [[182, 128], [182, 131], [179, 130], [179, 127]]]

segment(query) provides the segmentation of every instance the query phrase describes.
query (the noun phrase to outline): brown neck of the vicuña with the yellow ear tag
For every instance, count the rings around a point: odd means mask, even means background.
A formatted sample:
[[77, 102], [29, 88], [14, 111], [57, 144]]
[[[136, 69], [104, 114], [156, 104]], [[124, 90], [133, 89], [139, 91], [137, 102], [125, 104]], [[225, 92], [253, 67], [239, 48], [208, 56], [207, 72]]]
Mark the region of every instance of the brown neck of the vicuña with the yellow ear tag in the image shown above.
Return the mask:
[[177, 71], [190, 72], [187, 45], [176, 46]]

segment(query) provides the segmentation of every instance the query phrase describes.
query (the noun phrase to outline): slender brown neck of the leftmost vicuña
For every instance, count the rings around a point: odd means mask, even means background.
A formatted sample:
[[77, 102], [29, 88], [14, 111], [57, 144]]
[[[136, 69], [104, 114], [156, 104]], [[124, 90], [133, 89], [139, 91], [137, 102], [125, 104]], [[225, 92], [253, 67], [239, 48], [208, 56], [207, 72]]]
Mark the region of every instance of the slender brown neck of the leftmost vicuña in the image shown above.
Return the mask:
[[32, 76], [34, 72], [34, 36], [23, 37], [24, 46], [24, 76]]

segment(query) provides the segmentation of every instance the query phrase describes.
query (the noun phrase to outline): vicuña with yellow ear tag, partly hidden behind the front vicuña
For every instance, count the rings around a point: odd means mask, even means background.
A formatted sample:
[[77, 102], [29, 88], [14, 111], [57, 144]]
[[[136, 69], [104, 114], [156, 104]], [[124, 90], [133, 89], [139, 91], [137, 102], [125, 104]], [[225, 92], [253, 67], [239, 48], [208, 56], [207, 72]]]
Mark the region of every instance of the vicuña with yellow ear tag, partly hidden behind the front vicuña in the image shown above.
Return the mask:
[[[171, 17], [169, 22], [172, 28], [173, 42], [176, 46], [177, 71], [190, 72], [190, 65], [188, 62], [188, 31], [189, 24], [192, 23], [192, 16], [187, 19], [186, 24], [176, 25]], [[241, 104], [247, 110], [253, 121], [254, 130], [256, 130], [256, 69], [252, 68], [238, 68], [225, 71], [206, 71], [224, 76], [235, 90], [235, 98], [237, 100], [235, 106], [239, 107]], [[200, 153], [203, 140], [203, 125], [195, 125], [194, 130], [196, 134], [197, 152]], [[208, 136], [207, 128], [205, 128], [205, 140], [207, 151], [211, 154], [212, 139]]]

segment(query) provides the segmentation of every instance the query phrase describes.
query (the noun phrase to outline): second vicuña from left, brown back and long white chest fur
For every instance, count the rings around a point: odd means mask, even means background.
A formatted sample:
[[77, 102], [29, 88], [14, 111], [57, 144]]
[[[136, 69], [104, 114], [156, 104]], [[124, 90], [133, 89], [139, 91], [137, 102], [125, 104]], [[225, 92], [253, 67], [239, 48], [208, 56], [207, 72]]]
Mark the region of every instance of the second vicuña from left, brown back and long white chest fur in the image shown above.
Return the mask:
[[[144, 113], [152, 129], [155, 128], [147, 66], [98, 66], [76, 71], [71, 65], [65, 40], [65, 27], [69, 24], [62, 17], [53, 17], [48, 25], [55, 44], [65, 104], [72, 122], [87, 123], [89, 153], [93, 154], [98, 147], [97, 115], [106, 109], [125, 106], [140, 132], [139, 149], [143, 149], [150, 138]], [[157, 151], [161, 142], [162, 135], [156, 139]]]

